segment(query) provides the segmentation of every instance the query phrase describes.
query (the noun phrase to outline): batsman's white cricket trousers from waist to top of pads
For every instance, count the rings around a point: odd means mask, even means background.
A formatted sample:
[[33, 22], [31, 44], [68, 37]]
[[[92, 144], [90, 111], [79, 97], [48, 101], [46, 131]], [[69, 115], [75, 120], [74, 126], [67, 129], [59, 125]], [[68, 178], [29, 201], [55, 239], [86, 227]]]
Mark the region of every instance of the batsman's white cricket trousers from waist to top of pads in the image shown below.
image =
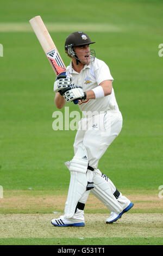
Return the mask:
[[74, 140], [74, 154], [78, 150], [78, 145], [83, 143], [87, 150], [89, 166], [97, 169], [99, 159], [121, 132], [122, 121], [120, 111], [105, 111], [82, 118]]

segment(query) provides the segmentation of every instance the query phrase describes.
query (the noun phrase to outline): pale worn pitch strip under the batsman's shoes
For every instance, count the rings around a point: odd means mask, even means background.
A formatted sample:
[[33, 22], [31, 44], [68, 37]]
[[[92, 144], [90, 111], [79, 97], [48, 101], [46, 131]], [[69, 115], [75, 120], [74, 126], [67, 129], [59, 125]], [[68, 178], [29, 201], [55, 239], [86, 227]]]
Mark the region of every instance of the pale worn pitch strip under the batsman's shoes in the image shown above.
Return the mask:
[[1, 214], [0, 238], [25, 237], [163, 237], [163, 214], [126, 213], [113, 224], [107, 214], [85, 214], [85, 227], [54, 227], [59, 214]]

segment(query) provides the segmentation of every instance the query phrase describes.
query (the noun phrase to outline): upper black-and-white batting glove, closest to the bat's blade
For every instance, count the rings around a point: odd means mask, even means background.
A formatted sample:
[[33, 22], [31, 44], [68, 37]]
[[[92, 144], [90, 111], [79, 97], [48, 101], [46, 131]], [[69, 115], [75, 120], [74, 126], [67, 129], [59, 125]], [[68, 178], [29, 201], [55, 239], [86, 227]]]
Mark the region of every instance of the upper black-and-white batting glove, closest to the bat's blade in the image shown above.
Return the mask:
[[[54, 92], [55, 93], [60, 93], [62, 90], [68, 88], [71, 84], [71, 76], [66, 76], [66, 75], [59, 75], [56, 77], [56, 80], [54, 82]], [[62, 94], [61, 94], [62, 95]]]

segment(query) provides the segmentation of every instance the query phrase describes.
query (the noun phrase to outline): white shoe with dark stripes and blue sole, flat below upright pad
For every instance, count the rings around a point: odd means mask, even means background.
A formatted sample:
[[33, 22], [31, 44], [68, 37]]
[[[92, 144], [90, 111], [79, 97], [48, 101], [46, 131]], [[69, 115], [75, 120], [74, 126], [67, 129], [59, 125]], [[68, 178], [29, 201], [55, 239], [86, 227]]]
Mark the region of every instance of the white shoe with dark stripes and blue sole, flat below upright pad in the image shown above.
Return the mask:
[[51, 223], [56, 226], [56, 227], [84, 227], [85, 223], [84, 222], [75, 222], [75, 221], [70, 221], [64, 218], [63, 216], [60, 216], [59, 218], [53, 218]]

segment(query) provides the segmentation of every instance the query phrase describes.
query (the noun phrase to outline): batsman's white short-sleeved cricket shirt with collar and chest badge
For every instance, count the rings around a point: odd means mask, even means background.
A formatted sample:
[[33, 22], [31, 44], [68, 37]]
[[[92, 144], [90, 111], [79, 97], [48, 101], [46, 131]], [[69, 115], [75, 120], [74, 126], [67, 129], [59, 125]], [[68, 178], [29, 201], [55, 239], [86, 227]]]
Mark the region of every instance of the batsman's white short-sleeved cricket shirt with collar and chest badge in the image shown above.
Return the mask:
[[[110, 74], [108, 65], [106, 65], [103, 60], [97, 58], [95, 58], [94, 62], [90, 62], [89, 65], [85, 65], [80, 73], [73, 69], [71, 61], [70, 66], [67, 66], [67, 75], [68, 74], [72, 75], [72, 84], [82, 86], [84, 92], [99, 86], [99, 84], [105, 80], [114, 80]], [[82, 112], [101, 112], [108, 110], [119, 112], [113, 88], [111, 94], [108, 96], [95, 100], [79, 100], [78, 105]]]

